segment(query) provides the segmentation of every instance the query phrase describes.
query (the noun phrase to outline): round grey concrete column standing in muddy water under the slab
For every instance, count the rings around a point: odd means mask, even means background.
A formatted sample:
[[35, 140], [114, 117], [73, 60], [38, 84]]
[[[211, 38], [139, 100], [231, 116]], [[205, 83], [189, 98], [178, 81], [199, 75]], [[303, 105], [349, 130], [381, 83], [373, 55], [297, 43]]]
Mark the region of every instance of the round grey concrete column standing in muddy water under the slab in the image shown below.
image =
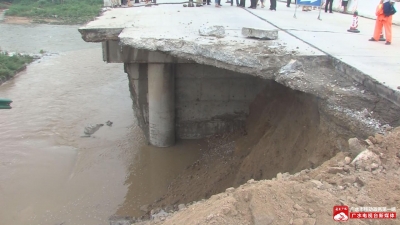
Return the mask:
[[175, 144], [174, 64], [148, 64], [149, 141], [157, 147]]

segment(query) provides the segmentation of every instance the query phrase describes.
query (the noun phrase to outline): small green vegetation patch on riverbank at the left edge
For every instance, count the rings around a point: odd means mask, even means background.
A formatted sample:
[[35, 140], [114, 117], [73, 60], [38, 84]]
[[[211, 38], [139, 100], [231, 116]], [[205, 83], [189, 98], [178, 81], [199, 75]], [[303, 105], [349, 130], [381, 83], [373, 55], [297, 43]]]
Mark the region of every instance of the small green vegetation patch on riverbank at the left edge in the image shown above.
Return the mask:
[[24, 55], [8, 56], [7, 53], [0, 52], [0, 80], [8, 79], [22, 69], [25, 64], [32, 62], [33, 58]]

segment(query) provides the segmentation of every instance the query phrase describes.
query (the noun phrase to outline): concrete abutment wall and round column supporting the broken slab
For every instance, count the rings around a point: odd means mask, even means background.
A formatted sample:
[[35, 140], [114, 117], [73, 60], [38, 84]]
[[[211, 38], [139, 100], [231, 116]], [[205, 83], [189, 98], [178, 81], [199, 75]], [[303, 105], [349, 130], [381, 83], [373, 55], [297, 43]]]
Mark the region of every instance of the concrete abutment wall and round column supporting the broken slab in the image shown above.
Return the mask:
[[250, 103], [271, 81], [159, 51], [103, 42], [103, 59], [124, 63], [132, 108], [149, 144], [242, 129]]

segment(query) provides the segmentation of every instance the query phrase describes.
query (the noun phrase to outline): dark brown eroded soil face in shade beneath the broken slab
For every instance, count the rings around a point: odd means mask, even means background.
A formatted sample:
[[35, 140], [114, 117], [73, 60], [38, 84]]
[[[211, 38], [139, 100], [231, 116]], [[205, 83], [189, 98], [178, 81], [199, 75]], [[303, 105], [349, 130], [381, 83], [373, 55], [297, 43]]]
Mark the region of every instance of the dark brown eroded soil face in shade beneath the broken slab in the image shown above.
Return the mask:
[[352, 135], [321, 112], [314, 96], [271, 82], [250, 105], [246, 128], [207, 139], [202, 158], [152, 207], [207, 199], [250, 179], [315, 168], [347, 149]]

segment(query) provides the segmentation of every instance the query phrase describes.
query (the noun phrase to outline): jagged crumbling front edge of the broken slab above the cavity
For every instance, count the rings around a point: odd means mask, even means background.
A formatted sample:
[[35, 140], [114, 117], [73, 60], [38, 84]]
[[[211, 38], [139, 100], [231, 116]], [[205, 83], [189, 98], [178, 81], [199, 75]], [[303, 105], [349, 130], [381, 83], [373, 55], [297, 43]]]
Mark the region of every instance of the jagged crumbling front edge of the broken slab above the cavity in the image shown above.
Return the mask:
[[[251, 55], [248, 56], [249, 54], [236, 54], [232, 51], [234, 48], [229, 48], [229, 46], [224, 46], [228, 47], [228, 49], [224, 49], [227, 51], [212, 51], [207, 49], [207, 47], [210, 46], [201, 46], [183, 40], [179, 40], [178, 44], [172, 43], [174, 42], [173, 40], [171, 42], [171, 40], [154, 39], [140, 39], [136, 41], [129, 39], [129, 41], [120, 41], [122, 45], [127, 45], [133, 48], [146, 49], [149, 51], [161, 51], [174, 57], [192, 60], [199, 64], [215, 66], [239, 73], [258, 76], [264, 79], [274, 80], [293, 90], [305, 92], [320, 98], [325, 102], [323, 104], [325, 107], [321, 107], [320, 109], [328, 115], [336, 116], [337, 118], [340, 118], [341, 121], [346, 121], [345, 124], [352, 124], [350, 130], [354, 133], [357, 133], [356, 130], [359, 130], [363, 131], [364, 136], [367, 136], [368, 134], [382, 132], [382, 124], [380, 121], [373, 118], [365, 118], [361, 115], [361, 111], [337, 104], [335, 98], [326, 91], [327, 87], [325, 82], [318, 82], [320, 80], [314, 80], [313, 82], [312, 80], [307, 79], [309, 77], [302, 77], [301, 75], [298, 75], [298, 73], [292, 73], [289, 76], [279, 74], [279, 70], [287, 65], [290, 60], [300, 61], [303, 67], [315, 68], [316, 66], [325, 66], [335, 69], [332, 66], [332, 59], [328, 56], [293, 56], [290, 54], [269, 55], [268, 59], [272, 60], [274, 63], [267, 63], [266, 65], [260, 63], [256, 57]], [[222, 52], [222, 54], [218, 55], [217, 52]], [[242, 60], [236, 60], [235, 57]], [[253, 57], [254, 59], [248, 59], [246, 57]], [[271, 66], [272, 64], [274, 64], [274, 66]], [[302, 72], [304, 73], [304, 71]], [[360, 97], [350, 92], [349, 94], [355, 98]]]

